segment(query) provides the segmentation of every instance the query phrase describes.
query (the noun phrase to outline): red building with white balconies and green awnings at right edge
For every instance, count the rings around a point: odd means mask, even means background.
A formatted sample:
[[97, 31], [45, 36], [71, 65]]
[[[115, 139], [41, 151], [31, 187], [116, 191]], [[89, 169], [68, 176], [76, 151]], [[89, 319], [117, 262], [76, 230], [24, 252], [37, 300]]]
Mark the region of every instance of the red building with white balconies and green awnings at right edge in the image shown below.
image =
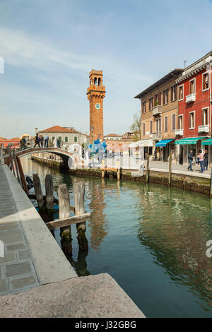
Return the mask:
[[211, 138], [211, 65], [209, 52], [184, 69], [176, 81], [179, 102], [175, 144], [179, 164], [187, 162], [190, 149], [197, 155], [199, 149], [206, 148], [211, 159], [211, 146], [203, 145], [206, 138]]

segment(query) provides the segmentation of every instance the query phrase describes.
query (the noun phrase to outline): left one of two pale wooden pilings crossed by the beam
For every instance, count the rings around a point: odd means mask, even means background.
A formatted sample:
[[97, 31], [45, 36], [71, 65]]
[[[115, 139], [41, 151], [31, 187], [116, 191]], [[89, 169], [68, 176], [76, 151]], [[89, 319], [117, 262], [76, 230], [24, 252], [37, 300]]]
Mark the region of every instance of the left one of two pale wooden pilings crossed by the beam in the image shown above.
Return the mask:
[[[58, 188], [59, 198], [59, 219], [70, 217], [70, 198], [69, 190], [66, 184], [60, 184]], [[71, 226], [65, 226], [60, 228], [61, 247], [64, 251], [70, 252], [72, 250], [71, 245]]]

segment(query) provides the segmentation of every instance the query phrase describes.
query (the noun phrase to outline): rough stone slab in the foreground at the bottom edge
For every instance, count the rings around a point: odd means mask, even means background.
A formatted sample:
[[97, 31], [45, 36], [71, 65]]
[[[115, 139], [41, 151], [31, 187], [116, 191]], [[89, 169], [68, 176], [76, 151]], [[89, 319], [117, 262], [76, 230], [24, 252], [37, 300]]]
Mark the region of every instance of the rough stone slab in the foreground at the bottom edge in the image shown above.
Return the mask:
[[0, 318], [3, 317], [145, 318], [107, 273], [3, 296]]

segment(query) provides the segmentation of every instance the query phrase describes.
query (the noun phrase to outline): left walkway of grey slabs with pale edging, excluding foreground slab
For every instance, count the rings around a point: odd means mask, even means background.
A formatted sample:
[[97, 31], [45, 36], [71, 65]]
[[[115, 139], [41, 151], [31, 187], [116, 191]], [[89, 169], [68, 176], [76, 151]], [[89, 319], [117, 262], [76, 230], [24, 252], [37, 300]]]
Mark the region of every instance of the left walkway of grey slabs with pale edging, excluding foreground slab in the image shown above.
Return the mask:
[[0, 295], [77, 277], [7, 165], [0, 165], [0, 240]]

